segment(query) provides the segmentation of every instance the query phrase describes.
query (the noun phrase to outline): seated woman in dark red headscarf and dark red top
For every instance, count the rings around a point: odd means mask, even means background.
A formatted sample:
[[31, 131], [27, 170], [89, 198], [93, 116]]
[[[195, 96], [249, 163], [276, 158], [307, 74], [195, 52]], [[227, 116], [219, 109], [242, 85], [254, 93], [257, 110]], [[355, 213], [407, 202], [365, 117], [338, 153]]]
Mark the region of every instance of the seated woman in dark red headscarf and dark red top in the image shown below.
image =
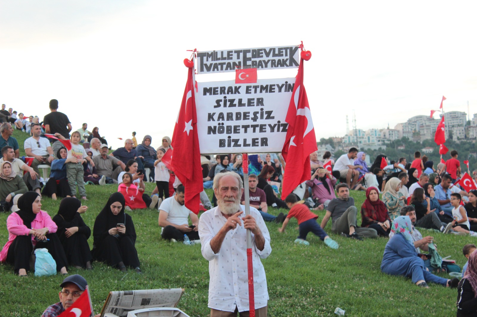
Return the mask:
[[366, 189], [366, 200], [361, 205], [361, 218], [362, 227], [375, 229], [380, 237], [389, 237], [391, 218], [375, 187]]

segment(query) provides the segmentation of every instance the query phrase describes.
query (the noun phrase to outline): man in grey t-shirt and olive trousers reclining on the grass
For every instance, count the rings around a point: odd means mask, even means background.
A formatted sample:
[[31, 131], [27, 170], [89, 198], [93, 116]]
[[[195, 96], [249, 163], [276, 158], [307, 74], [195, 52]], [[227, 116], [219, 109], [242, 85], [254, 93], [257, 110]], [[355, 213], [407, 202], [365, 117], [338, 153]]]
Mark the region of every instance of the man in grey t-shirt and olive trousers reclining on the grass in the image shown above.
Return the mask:
[[358, 228], [356, 216], [358, 210], [354, 207], [354, 199], [350, 197], [347, 184], [340, 183], [336, 186], [338, 198], [334, 198], [326, 208], [325, 217], [321, 220], [321, 228], [325, 228], [330, 217], [332, 218], [332, 231], [341, 233], [342, 236], [361, 240], [361, 237], [376, 238], [378, 233], [373, 228]]

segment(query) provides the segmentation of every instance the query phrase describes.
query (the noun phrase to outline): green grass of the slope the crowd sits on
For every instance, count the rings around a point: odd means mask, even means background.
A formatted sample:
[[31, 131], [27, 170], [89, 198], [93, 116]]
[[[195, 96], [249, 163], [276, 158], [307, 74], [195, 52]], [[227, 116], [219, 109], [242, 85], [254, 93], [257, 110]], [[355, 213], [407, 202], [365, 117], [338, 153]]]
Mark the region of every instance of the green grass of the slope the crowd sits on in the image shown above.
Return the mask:
[[[22, 148], [20, 132], [15, 137]], [[22, 154], [21, 154], [22, 155]], [[146, 183], [146, 190], [153, 184]], [[87, 186], [88, 211], [85, 223], [93, 228], [95, 217], [104, 207], [109, 195], [117, 190], [113, 185]], [[208, 190], [211, 195], [211, 191]], [[353, 192], [356, 206], [364, 201], [364, 192]], [[58, 210], [59, 201], [43, 199], [42, 209], [50, 216]], [[283, 210], [281, 210], [283, 211]], [[280, 210], [271, 210], [278, 214]], [[94, 270], [70, 268], [70, 274], [81, 274], [92, 291], [93, 308], [98, 313], [110, 290], [148, 288], [185, 288], [177, 307], [189, 316], [208, 316], [208, 262], [200, 253], [200, 246], [169, 243], [160, 238], [157, 212], [134, 210], [129, 212], [137, 232], [136, 248], [143, 275], [133, 271], [124, 274], [103, 263], [93, 263]], [[324, 212], [318, 212], [321, 221]], [[0, 213], [5, 224], [8, 213]], [[361, 223], [361, 219], [358, 220]], [[296, 219], [284, 234], [280, 225], [267, 223], [270, 229], [272, 253], [262, 263], [267, 274], [270, 295], [269, 316], [335, 316], [334, 309], [346, 310], [345, 316], [451, 316], [456, 314], [456, 290], [430, 285], [416, 287], [410, 279], [382, 274], [379, 267], [386, 238], [356, 241], [331, 233], [331, 221], [325, 230], [340, 244], [338, 250], [327, 248], [318, 237], [308, 235], [310, 246], [295, 245], [298, 235]], [[462, 267], [465, 258], [462, 247], [474, 243], [474, 238], [442, 235], [420, 230], [435, 237], [442, 257], [451, 256]], [[7, 241], [5, 225], [0, 226], [0, 245]], [[90, 238], [90, 245], [92, 238]], [[448, 277], [446, 274], [440, 274]], [[63, 277], [27, 278], [13, 274], [10, 265], [0, 265], [0, 316], [40, 316], [43, 310], [58, 301], [59, 284]]]

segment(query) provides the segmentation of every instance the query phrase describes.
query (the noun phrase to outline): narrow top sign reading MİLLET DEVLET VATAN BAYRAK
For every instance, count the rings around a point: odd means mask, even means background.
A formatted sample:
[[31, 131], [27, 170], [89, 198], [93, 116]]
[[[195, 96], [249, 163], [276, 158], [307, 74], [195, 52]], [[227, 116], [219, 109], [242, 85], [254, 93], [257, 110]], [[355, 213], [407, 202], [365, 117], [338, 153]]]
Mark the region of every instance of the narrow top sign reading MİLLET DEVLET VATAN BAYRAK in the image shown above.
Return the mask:
[[297, 45], [197, 52], [197, 74], [235, 71], [238, 68], [298, 68], [299, 64], [300, 50]]

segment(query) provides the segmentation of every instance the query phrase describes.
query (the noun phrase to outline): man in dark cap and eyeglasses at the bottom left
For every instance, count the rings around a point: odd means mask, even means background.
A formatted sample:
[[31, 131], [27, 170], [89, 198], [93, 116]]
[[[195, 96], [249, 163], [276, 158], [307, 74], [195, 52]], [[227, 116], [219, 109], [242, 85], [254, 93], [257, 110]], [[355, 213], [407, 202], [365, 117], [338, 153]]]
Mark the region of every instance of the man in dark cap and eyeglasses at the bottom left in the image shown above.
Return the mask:
[[[78, 274], [70, 275], [63, 279], [63, 282], [60, 284], [62, 290], [58, 294], [60, 301], [46, 308], [41, 317], [57, 317], [61, 315], [83, 294], [87, 285], [88, 283], [84, 277]], [[100, 316], [101, 314], [94, 315], [94, 317]]]

